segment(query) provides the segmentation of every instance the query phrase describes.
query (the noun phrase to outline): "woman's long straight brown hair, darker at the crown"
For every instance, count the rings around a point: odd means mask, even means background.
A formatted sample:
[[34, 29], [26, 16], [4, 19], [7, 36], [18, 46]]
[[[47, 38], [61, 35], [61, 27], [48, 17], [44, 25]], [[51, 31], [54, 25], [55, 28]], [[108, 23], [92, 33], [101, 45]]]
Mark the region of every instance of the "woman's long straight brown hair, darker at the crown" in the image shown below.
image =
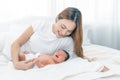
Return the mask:
[[72, 20], [76, 23], [76, 28], [71, 33], [74, 40], [74, 51], [77, 56], [84, 57], [83, 55], [83, 32], [82, 32], [82, 14], [77, 8], [68, 7], [58, 14], [56, 21], [60, 19]]

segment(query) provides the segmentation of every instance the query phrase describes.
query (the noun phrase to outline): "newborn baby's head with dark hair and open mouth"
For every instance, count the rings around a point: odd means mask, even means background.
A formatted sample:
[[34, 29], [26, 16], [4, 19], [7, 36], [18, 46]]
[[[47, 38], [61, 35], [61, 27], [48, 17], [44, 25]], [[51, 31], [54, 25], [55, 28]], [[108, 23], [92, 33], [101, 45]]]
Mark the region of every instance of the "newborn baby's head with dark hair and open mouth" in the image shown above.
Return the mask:
[[65, 50], [57, 50], [53, 55], [53, 59], [57, 63], [64, 62], [68, 60], [68, 58], [69, 58], [69, 53]]

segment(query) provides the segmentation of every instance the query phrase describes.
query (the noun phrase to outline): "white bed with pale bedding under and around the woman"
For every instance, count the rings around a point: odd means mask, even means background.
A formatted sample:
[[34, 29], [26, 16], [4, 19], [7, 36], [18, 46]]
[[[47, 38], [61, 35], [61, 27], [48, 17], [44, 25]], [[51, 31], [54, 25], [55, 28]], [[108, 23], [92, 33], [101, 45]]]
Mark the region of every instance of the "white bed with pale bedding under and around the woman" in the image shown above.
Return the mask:
[[[84, 29], [83, 50], [87, 57], [94, 60], [92, 63], [81, 58], [74, 58], [41, 69], [16, 70], [10, 61], [10, 45], [26, 26], [38, 19], [27, 18], [27, 20], [22, 19], [0, 25], [0, 27], [4, 26], [0, 31], [0, 80], [120, 80], [120, 51], [89, 43], [86, 28]], [[103, 65], [110, 70], [98, 71]]]

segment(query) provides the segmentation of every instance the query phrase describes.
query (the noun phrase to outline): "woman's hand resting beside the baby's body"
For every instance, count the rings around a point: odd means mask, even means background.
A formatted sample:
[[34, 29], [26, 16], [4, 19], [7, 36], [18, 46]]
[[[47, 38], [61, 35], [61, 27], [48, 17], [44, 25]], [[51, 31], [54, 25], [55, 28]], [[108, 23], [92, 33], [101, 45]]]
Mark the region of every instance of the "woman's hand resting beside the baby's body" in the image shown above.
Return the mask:
[[15, 62], [14, 66], [16, 69], [20, 69], [20, 70], [28, 70], [33, 68], [35, 65], [35, 63], [33, 62], [33, 59], [30, 60], [26, 60], [26, 61], [19, 61], [19, 62]]

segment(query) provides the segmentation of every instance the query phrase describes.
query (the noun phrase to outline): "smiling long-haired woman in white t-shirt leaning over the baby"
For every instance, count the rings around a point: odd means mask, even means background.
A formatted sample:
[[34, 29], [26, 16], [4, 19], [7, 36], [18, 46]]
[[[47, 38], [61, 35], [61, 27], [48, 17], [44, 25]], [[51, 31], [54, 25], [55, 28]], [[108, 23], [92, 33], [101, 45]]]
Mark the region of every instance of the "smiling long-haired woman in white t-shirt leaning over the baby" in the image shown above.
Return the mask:
[[34, 53], [52, 55], [56, 50], [64, 49], [70, 53], [70, 58], [73, 54], [83, 58], [82, 38], [81, 12], [76, 8], [68, 7], [58, 14], [56, 22], [43, 20], [33, 24], [12, 44], [14, 67], [27, 70], [34, 66], [32, 60], [19, 61], [18, 54], [23, 44]]

